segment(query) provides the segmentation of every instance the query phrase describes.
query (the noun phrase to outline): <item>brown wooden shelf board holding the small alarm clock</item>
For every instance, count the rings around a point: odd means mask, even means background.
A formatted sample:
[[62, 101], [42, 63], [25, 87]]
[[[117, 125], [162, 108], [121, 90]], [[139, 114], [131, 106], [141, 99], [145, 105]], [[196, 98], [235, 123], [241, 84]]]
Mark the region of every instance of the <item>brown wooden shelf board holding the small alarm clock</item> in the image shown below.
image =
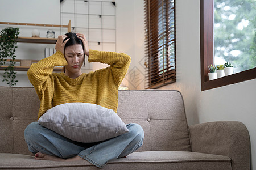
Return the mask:
[[18, 42], [39, 43], [39, 44], [56, 44], [57, 39], [40, 38], [40, 37], [18, 37]]

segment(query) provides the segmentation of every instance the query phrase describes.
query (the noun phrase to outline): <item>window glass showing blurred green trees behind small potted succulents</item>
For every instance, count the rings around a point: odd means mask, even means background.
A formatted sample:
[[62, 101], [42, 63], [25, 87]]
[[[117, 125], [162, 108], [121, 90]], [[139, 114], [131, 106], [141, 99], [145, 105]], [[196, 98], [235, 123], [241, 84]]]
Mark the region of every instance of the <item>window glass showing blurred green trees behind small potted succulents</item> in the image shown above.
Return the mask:
[[251, 0], [214, 0], [214, 65], [229, 61], [234, 73], [256, 67], [255, 16]]

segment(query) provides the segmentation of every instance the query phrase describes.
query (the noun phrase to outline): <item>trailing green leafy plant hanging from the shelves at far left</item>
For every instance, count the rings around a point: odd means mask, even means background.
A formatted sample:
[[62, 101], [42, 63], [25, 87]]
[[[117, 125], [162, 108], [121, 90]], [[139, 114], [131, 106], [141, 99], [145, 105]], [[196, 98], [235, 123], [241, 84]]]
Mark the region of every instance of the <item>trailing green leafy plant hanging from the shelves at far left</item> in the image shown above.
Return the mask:
[[17, 48], [17, 39], [19, 35], [19, 28], [8, 27], [2, 29], [0, 33], [0, 66], [5, 65], [6, 58], [10, 57], [10, 63], [3, 73], [3, 82], [7, 82], [9, 87], [16, 85], [18, 80], [16, 72], [14, 71], [15, 50]]

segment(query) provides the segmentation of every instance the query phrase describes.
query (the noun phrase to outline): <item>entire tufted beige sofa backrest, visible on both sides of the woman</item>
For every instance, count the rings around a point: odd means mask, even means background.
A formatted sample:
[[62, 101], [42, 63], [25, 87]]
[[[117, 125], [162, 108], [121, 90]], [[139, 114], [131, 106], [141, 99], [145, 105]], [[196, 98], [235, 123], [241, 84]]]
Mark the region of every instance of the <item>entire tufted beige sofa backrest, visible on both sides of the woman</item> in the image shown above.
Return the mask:
[[[30, 154], [24, 129], [37, 121], [40, 101], [34, 87], [0, 87], [0, 152]], [[191, 151], [183, 98], [172, 90], [119, 90], [117, 114], [144, 129], [138, 151]]]

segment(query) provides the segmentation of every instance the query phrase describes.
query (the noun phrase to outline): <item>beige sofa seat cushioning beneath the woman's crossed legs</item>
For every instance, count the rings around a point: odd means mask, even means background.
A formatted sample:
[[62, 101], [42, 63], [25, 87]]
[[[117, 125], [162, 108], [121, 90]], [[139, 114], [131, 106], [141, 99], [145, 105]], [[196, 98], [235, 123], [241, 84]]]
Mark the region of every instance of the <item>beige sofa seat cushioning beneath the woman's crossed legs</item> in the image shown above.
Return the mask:
[[[96, 169], [85, 160], [55, 162], [34, 160], [34, 156], [19, 154], [0, 154], [0, 168]], [[230, 158], [221, 155], [185, 151], [146, 151], [134, 152], [127, 158], [110, 161], [104, 169], [231, 169], [231, 165]]]

